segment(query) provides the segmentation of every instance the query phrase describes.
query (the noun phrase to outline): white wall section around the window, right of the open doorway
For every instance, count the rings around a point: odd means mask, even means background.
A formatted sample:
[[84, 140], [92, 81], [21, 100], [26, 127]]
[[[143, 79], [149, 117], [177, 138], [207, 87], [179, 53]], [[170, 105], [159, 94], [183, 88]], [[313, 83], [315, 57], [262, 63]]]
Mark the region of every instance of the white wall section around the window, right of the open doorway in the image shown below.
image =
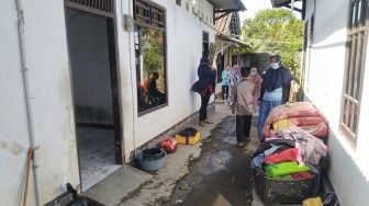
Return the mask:
[[[135, 146], [147, 142], [199, 110], [200, 98], [191, 92], [190, 88], [198, 79], [197, 67], [202, 52], [202, 32], [210, 33], [210, 42], [215, 41], [215, 32], [187, 12], [186, 8], [178, 7], [176, 1], [159, 0], [156, 3], [165, 7], [167, 14], [168, 106], [138, 117], [135, 84], [122, 83], [122, 93], [125, 94], [122, 96], [122, 108], [126, 158]], [[124, 1], [123, 5], [119, 3], [119, 8], [123, 9], [123, 13], [131, 12], [128, 2]], [[121, 18], [118, 25], [122, 25]], [[122, 27], [118, 32], [121, 82], [132, 82], [136, 79], [133, 35]], [[134, 96], [133, 100], [130, 96]]]

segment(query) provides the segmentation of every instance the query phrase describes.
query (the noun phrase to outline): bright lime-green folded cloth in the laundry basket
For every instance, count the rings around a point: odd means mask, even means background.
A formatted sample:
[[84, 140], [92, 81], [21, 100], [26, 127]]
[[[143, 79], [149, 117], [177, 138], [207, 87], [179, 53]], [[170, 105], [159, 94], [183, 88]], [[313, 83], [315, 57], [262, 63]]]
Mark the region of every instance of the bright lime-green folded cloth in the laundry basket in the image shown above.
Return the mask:
[[264, 165], [264, 171], [268, 176], [277, 178], [298, 172], [306, 172], [309, 168], [306, 165], [299, 165], [298, 162], [280, 162]]

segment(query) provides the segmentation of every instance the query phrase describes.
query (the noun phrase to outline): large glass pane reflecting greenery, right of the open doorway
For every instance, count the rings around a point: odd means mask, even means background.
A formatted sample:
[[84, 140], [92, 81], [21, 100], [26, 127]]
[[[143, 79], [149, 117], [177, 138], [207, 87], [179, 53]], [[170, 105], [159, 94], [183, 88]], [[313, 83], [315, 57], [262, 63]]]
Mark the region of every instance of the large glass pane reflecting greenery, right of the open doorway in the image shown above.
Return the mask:
[[167, 103], [165, 70], [165, 33], [137, 26], [139, 50], [136, 50], [138, 112]]

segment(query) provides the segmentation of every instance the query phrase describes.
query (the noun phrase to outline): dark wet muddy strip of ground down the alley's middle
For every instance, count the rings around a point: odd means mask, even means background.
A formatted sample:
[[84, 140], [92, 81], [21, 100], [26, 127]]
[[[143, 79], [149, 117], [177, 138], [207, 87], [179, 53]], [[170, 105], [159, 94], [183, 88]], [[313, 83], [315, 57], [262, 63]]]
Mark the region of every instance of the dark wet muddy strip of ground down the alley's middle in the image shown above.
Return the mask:
[[203, 142], [201, 156], [189, 164], [190, 173], [180, 180], [163, 205], [251, 205], [254, 187], [249, 167], [256, 144], [256, 118], [251, 141], [245, 148], [236, 145], [235, 116], [226, 117]]

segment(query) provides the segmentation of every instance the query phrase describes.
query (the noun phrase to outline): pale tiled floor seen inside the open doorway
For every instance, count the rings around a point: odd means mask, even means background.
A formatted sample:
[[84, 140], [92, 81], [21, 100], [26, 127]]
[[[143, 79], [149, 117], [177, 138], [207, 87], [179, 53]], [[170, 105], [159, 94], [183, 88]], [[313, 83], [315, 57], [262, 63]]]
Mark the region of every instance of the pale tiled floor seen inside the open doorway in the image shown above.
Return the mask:
[[114, 130], [77, 127], [82, 191], [87, 191], [121, 165], [115, 164]]

